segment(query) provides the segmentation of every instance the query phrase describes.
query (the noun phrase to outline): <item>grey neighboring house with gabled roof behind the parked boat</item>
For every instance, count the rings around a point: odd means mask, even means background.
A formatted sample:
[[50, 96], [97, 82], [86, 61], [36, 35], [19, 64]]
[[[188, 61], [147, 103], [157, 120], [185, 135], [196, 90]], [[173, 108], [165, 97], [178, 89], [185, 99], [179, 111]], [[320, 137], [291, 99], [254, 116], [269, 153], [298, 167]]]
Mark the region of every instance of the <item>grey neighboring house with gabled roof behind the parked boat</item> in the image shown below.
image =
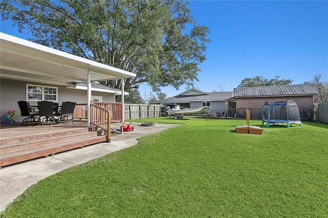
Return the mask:
[[213, 92], [207, 93], [196, 89], [190, 89], [174, 97], [158, 101], [162, 106], [171, 108], [178, 104], [183, 107], [193, 108], [200, 106], [209, 106], [210, 113], [224, 113], [226, 111], [226, 100], [232, 97], [233, 92]]

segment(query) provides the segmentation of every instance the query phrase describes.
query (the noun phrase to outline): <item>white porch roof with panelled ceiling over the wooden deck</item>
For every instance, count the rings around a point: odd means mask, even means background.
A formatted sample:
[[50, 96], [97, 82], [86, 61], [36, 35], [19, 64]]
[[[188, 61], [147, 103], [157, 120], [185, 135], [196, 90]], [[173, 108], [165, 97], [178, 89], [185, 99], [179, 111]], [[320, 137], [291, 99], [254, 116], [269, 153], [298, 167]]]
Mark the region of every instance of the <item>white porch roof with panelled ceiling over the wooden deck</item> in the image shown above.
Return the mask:
[[57, 85], [135, 77], [136, 74], [0, 33], [1, 78]]

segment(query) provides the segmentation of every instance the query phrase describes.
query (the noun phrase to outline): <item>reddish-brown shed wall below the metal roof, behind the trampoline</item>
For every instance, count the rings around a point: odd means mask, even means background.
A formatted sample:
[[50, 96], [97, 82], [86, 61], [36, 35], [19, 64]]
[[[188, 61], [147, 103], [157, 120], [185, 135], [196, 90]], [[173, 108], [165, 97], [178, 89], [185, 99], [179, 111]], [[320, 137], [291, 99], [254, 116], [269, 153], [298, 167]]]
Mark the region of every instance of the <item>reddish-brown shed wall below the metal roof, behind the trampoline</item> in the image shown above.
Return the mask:
[[287, 102], [288, 100], [293, 100], [297, 104], [301, 120], [313, 120], [313, 96], [236, 98], [237, 117], [246, 118], [246, 110], [249, 109], [251, 118], [262, 119], [262, 107], [265, 101], [274, 104], [277, 101]]

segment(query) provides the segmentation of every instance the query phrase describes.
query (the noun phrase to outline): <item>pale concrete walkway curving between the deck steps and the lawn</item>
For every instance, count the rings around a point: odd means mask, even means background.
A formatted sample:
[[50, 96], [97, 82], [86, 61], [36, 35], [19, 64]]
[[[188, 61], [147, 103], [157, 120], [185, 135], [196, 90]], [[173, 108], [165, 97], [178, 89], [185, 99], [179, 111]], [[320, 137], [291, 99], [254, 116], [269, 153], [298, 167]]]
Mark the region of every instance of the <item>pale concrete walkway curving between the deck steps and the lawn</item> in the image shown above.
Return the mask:
[[157, 124], [148, 127], [133, 122], [132, 126], [136, 128], [135, 131], [113, 136], [111, 143], [98, 143], [61, 152], [48, 158], [39, 158], [3, 167], [0, 169], [0, 212], [28, 187], [46, 177], [72, 166], [108, 155], [111, 152], [131, 147], [137, 144], [137, 138], [141, 136], [158, 133], [176, 125]]

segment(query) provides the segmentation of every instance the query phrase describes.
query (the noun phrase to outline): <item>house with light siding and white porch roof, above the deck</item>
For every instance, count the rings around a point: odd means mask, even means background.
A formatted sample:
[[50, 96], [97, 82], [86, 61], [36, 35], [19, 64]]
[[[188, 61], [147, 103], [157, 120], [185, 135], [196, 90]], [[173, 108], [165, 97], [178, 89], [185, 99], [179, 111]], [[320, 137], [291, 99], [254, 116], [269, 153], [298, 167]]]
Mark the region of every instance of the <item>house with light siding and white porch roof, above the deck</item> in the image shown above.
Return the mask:
[[16, 122], [23, 120], [17, 101], [28, 101], [31, 105], [40, 100], [78, 104], [90, 104], [89, 100], [115, 102], [115, 95], [127, 94], [124, 87], [117, 90], [97, 81], [136, 76], [8, 34], [0, 36], [0, 116], [13, 109]]

